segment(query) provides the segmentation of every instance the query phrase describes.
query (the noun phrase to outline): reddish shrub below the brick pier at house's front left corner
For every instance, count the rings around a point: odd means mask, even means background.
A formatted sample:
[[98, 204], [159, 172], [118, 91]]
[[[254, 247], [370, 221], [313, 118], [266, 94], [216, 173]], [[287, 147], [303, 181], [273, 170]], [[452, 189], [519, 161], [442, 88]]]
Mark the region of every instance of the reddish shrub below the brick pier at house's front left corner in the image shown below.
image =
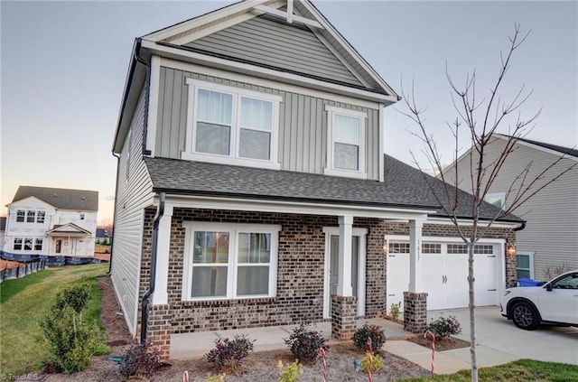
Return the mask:
[[156, 368], [161, 366], [161, 352], [147, 340], [126, 350], [125, 357], [119, 365], [120, 375], [128, 378], [151, 377]]

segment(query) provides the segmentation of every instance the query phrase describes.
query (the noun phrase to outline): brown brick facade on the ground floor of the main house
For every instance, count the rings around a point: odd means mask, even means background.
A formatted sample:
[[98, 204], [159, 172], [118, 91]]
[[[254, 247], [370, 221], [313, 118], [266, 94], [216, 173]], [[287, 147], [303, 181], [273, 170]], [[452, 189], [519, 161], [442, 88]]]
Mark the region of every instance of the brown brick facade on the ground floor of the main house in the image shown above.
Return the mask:
[[[141, 263], [140, 296], [149, 286], [154, 209], [145, 210], [143, 255]], [[277, 293], [271, 298], [183, 302], [182, 281], [184, 266], [185, 228], [182, 222], [206, 221], [222, 223], [250, 223], [280, 225]], [[259, 326], [298, 324], [323, 321], [323, 278], [325, 261], [325, 233], [323, 227], [338, 227], [334, 216], [311, 216], [253, 211], [192, 210], [175, 208], [172, 212], [169, 253], [168, 305], [154, 306], [149, 312], [149, 334], [166, 345], [166, 331], [186, 333], [243, 329]], [[387, 256], [384, 253], [385, 235], [408, 235], [407, 224], [379, 219], [354, 219], [354, 228], [368, 228], [366, 258], [366, 317], [377, 317], [387, 309]], [[424, 236], [452, 237], [451, 225], [424, 225]], [[487, 238], [515, 240], [515, 232], [505, 228], [491, 228]], [[516, 258], [507, 258], [508, 286], [516, 284]], [[356, 310], [356, 299], [350, 299], [340, 309], [343, 322]], [[140, 320], [140, 312], [139, 312]], [[154, 323], [152, 323], [154, 322]], [[139, 322], [140, 324], [140, 322]], [[151, 328], [155, 328], [154, 330]], [[160, 329], [158, 329], [160, 328]], [[343, 330], [342, 330], [343, 331]], [[345, 328], [349, 331], [349, 326]], [[345, 331], [343, 331], [345, 333]], [[347, 334], [347, 333], [346, 333]]]

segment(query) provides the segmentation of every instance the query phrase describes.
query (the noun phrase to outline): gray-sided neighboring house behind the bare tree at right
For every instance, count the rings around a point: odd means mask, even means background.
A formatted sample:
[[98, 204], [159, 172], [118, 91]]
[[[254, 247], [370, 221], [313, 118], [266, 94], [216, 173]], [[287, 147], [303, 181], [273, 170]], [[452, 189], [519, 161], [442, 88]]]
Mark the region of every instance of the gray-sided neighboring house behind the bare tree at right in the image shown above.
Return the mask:
[[[505, 149], [507, 141], [508, 135], [493, 135], [487, 146], [485, 162], [493, 163]], [[526, 183], [533, 181], [563, 155], [564, 159], [545, 175], [542, 182], [575, 165], [578, 150], [518, 139], [486, 200], [498, 207], [508, 206], [517, 190], [514, 188], [507, 198], [508, 189], [518, 174], [530, 165]], [[468, 192], [471, 192], [470, 156], [471, 150], [458, 158], [460, 187]], [[446, 176], [452, 177], [454, 172], [453, 166], [444, 169]], [[545, 280], [564, 270], [578, 268], [578, 166], [539, 191], [515, 212], [527, 220], [526, 228], [517, 233], [518, 278]]]

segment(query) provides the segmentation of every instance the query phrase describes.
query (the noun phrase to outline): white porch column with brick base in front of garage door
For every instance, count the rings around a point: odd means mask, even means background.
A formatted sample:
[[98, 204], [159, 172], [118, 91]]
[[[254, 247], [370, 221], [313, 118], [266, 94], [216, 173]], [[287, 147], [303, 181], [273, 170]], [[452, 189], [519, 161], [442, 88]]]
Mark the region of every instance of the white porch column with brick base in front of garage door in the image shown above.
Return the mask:
[[427, 325], [427, 293], [422, 284], [424, 220], [409, 220], [409, 292], [404, 292], [404, 330], [422, 333]]

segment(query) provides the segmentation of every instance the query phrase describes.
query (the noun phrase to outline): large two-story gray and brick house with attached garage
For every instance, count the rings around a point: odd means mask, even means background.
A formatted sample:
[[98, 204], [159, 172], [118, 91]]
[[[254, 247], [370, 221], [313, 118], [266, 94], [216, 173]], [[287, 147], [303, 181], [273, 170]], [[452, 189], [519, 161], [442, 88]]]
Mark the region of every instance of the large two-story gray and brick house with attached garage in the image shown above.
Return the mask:
[[[384, 155], [398, 96], [310, 1], [229, 5], [132, 57], [111, 272], [130, 331], [163, 357], [192, 331], [331, 320], [350, 338], [391, 303], [415, 331], [426, 298], [467, 306], [467, 247], [426, 182], [442, 184]], [[476, 247], [478, 304], [516, 283], [505, 247], [522, 222]]]

